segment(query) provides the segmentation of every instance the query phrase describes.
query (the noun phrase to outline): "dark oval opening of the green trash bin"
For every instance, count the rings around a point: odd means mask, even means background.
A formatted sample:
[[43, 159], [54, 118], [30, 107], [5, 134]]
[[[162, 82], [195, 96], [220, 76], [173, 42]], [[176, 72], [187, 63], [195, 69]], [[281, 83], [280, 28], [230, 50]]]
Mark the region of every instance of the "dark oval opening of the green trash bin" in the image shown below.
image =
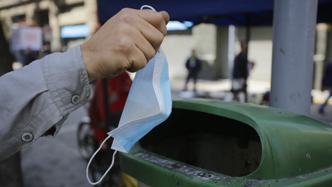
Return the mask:
[[262, 156], [259, 135], [248, 124], [186, 109], [172, 109], [139, 142], [145, 150], [231, 177], [255, 171]]

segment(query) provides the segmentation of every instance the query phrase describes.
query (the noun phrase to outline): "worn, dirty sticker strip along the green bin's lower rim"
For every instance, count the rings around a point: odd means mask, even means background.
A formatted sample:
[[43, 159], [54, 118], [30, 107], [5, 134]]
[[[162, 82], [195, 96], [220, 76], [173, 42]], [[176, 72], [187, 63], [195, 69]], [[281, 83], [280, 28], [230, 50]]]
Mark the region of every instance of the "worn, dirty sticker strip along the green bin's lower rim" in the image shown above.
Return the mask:
[[204, 171], [200, 171], [198, 169], [195, 169], [193, 167], [190, 167], [189, 165], [184, 165], [182, 163], [175, 163], [163, 158], [160, 158], [158, 156], [154, 156], [145, 152], [140, 152], [134, 155], [135, 157], [142, 158], [144, 160], [156, 163], [158, 165], [179, 171], [181, 173], [185, 173], [187, 175], [191, 175], [194, 177], [197, 177], [202, 180], [207, 180], [210, 178], [215, 177], [214, 175], [211, 175], [209, 173], [206, 173]]

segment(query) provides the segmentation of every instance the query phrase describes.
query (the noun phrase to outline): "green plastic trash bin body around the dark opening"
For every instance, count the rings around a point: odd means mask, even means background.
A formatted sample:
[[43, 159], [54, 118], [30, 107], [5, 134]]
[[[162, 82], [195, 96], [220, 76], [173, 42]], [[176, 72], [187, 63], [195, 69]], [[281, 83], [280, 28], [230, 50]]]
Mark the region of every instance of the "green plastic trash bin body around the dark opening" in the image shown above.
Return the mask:
[[173, 108], [201, 111], [250, 125], [262, 142], [260, 166], [244, 177], [197, 168], [218, 176], [202, 180], [134, 156], [140, 152], [156, 155], [136, 146], [129, 153], [120, 154], [125, 173], [151, 187], [332, 186], [332, 127], [329, 124], [277, 108], [207, 99], [175, 99]]

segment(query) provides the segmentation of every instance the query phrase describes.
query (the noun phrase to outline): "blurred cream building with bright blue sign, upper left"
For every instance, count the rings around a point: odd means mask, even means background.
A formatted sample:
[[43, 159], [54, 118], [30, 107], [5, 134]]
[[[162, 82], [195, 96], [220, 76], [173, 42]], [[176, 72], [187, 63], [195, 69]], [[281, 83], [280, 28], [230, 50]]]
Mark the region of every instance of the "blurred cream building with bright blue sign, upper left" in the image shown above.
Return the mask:
[[[11, 31], [22, 19], [28, 25], [46, 28], [43, 30], [50, 36], [44, 36], [43, 42], [50, 45], [51, 51], [74, 47], [97, 29], [97, 0], [0, 0], [0, 20], [7, 39], [11, 40]], [[80, 30], [75, 26], [81, 26]]]

